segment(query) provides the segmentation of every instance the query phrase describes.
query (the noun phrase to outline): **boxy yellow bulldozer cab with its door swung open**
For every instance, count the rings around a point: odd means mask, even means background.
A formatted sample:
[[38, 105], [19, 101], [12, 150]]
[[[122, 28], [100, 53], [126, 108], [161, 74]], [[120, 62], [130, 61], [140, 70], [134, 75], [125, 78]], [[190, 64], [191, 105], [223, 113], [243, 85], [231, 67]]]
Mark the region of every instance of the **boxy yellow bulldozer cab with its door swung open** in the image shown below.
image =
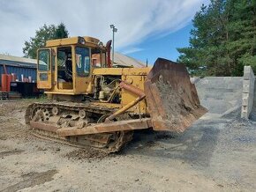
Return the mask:
[[92, 92], [92, 70], [107, 66], [106, 48], [88, 37], [47, 41], [37, 58], [38, 88], [54, 94]]

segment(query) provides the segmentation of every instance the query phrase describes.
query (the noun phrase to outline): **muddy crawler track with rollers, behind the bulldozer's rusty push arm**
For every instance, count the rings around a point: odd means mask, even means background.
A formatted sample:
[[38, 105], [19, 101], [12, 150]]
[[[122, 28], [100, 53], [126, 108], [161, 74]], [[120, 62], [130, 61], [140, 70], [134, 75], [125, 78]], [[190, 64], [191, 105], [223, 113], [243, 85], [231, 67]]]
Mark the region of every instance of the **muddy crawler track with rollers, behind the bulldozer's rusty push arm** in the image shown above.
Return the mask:
[[[72, 102], [43, 102], [33, 103], [26, 108], [26, 124], [40, 122], [46, 129], [33, 128], [32, 133], [62, 144], [69, 144], [79, 148], [91, 146], [104, 152], [119, 151], [132, 140], [132, 131], [118, 131], [99, 133], [85, 136], [59, 137], [56, 129], [62, 127], [81, 126], [102, 122], [108, 114], [113, 113], [117, 106], [106, 107], [99, 103], [72, 103]], [[84, 114], [84, 115], [83, 115]], [[127, 115], [123, 116], [123, 119]]]

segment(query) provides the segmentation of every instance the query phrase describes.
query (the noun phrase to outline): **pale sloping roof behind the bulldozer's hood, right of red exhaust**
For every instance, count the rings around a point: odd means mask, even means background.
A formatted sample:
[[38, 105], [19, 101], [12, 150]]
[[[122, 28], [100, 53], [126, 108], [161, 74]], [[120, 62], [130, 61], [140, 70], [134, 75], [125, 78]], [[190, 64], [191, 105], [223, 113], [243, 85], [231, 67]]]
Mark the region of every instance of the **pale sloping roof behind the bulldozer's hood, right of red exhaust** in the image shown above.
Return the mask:
[[[112, 54], [111, 54], [112, 56]], [[112, 59], [112, 58], [111, 58]], [[127, 55], [123, 55], [120, 53], [115, 52], [114, 55], [114, 63], [117, 65], [122, 65], [122, 66], [133, 66], [133, 67], [137, 67], [137, 68], [142, 68], [142, 67], [146, 67], [146, 63], [140, 62], [134, 58], [132, 58], [131, 56], [127, 56]]]

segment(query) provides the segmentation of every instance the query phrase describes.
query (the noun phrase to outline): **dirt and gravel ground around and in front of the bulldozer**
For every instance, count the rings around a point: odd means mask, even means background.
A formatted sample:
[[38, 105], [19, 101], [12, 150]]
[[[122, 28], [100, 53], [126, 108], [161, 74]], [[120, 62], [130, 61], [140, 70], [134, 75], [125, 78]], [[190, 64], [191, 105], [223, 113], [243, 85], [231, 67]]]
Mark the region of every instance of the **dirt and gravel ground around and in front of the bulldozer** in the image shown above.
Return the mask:
[[183, 134], [135, 133], [109, 156], [33, 137], [33, 100], [0, 101], [0, 191], [253, 191], [256, 123], [204, 115]]

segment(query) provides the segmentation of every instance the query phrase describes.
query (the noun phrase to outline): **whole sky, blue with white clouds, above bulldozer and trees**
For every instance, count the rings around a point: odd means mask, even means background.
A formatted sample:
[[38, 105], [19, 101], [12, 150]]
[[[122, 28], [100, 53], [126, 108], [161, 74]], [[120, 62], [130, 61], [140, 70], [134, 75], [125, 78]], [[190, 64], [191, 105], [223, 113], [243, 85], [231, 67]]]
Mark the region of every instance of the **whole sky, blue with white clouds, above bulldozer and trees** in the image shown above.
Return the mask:
[[175, 61], [189, 45], [192, 18], [208, 0], [0, 0], [0, 53], [23, 56], [24, 42], [44, 24], [63, 22], [70, 36], [106, 43], [117, 27], [115, 51], [142, 62]]

